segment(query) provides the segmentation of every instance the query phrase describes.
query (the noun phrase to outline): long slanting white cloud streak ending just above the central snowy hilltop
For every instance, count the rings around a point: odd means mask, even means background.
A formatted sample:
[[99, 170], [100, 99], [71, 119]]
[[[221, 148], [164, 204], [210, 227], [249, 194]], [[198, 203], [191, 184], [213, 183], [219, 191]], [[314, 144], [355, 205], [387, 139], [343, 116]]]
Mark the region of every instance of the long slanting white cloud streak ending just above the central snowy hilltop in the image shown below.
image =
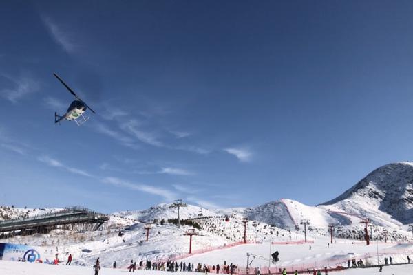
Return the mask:
[[157, 195], [165, 199], [165, 201], [173, 201], [174, 199], [176, 199], [176, 195], [167, 189], [156, 186], [149, 186], [147, 184], [133, 184], [129, 181], [118, 179], [117, 177], [105, 177], [102, 179], [102, 182], [105, 184], [112, 184], [113, 186], [129, 188], [130, 190], [147, 192], [151, 195]]

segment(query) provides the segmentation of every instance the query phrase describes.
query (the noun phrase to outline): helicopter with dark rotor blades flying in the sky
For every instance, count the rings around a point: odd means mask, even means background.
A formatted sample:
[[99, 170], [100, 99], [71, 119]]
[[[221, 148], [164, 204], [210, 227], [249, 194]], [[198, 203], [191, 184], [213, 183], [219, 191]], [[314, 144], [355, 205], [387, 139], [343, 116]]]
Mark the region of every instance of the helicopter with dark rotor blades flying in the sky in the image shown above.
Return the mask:
[[60, 124], [61, 120], [74, 120], [74, 122], [76, 122], [76, 124], [80, 126], [81, 124], [89, 120], [89, 117], [85, 117], [83, 113], [85, 113], [87, 109], [92, 111], [92, 113], [95, 113], [95, 111], [87, 106], [87, 104], [83, 100], [81, 100], [81, 98], [79, 98], [78, 95], [76, 95], [76, 93], [72, 89], [70, 89], [70, 87], [67, 86], [67, 84], [57, 74], [53, 73], [53, 75], [56, 76], [56, 78], [63, 84], [63, 86], [65, 86], [66, 89], [70, 91], [70, 94], [74, 95], [74, 97], [76, 98], [76, 100], [70, 103], [70, 106], [69, 108], [67, 108], [67, 111], [64, 115], [58, 115], [56, 112], [54, 112], [54, 123]]

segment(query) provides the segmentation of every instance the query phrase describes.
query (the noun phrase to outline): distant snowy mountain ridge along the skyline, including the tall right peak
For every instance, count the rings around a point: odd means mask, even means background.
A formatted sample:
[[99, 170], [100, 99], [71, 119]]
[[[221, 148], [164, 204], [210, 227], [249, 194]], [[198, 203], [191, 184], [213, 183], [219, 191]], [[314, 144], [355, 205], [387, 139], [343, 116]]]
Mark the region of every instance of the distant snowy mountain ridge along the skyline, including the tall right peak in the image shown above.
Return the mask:
[[[116, 213], [139, 221], [178, 217], [176, 208], [160, 204], [147, 210]], [[413, 163], [397, 162], [374, 170], [339, 197], [319, 206], [306, 206], [292, 199], [280, 199], [249, 208], [207, 210], [198, 206], [181, 208], [181, 219], [230, 216], [260, 221], [278, 228], [302, 228], [308, 219], [314, 228], [328, 225], [357, 225], [368, 217], [372, 223], [396, 229], [413, 223]]]

